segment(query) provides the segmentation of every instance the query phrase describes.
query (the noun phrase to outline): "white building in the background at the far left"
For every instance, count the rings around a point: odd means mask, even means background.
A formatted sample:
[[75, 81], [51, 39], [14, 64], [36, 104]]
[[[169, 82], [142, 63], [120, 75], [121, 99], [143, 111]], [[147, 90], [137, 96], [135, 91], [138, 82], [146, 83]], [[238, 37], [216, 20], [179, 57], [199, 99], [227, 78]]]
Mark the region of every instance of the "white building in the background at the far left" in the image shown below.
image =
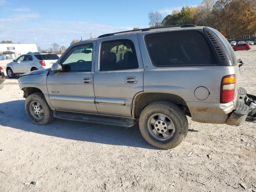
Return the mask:
[[36, 43], [0, 43], [0, 55], [16, 59], [28, 52], [38, 52]]

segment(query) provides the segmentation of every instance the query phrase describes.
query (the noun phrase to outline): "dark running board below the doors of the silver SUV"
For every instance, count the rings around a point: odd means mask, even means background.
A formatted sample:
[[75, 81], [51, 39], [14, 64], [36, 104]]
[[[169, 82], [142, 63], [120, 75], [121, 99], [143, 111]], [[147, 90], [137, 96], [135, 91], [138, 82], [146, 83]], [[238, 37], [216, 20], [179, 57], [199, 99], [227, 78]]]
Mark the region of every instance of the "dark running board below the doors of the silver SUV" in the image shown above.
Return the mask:
[[55, 118], [65, 120], [83, 121], [121, 127], [132, 127], [135, 124], [137, 124], [137, 121], [131, 118], [105, 116], [100, 114], [84, 114], [76, 112], [53, 111], [53, 116]]

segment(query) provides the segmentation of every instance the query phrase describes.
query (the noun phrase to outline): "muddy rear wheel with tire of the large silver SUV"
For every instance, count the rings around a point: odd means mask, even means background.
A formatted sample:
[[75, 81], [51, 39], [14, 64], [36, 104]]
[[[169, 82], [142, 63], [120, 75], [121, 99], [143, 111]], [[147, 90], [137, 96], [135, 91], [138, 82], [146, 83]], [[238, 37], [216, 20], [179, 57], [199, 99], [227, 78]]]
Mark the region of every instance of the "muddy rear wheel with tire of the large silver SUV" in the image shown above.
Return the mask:
[[162, 149], [172, 149], [186, 138], [188, 119], [176, 104], [158, 101], [142, 110], [139, 127], [143, 138], [149, 144]]

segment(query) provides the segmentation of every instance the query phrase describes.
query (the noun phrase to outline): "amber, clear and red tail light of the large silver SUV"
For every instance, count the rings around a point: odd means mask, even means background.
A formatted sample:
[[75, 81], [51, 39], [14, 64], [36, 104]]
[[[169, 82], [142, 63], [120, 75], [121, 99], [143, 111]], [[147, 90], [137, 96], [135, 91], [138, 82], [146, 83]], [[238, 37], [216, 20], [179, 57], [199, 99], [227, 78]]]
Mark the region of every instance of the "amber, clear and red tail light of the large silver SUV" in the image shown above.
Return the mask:
[[227, 75], [222, 78], [221, 91], [220, 91], [221, 103], [228, 103], [234, 100], [235, 84], [236, 84], [235, 75]]

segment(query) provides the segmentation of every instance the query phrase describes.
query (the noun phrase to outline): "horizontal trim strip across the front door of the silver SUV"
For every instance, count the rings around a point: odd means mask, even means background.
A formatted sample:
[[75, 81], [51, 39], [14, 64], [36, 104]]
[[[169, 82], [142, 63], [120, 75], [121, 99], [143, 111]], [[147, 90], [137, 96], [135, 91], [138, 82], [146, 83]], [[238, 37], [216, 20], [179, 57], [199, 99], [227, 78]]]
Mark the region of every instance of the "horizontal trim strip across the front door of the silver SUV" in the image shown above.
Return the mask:
[[80, 102], [80, 103], [95, 103], [94, 97], [84, 96], [66, 96], [66, 95], [49, 95], [52, 101]]

